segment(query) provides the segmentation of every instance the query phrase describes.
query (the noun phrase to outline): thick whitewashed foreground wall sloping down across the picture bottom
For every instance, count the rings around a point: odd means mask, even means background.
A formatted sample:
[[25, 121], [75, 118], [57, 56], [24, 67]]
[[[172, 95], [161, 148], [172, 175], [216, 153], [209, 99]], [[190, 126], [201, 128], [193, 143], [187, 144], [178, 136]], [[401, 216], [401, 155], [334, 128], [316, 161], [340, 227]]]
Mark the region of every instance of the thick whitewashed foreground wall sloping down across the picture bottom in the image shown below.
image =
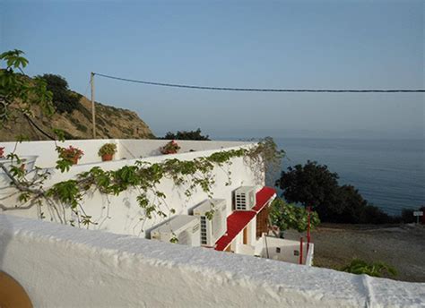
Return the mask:
[[424, 307], [425, 284], [0, 215], [0, 270], [35, 307]]

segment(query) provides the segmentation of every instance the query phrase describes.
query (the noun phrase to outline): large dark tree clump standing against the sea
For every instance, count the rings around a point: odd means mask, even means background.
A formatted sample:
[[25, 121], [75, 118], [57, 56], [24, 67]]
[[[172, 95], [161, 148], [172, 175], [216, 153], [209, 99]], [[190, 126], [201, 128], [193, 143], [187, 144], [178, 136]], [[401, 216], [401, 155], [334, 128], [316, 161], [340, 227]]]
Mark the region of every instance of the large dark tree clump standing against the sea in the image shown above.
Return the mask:
[[393, 221], [364, 200], [354, 186], [339, 185], [338, 175], [316, 161], [288, 167], [276, 185], [283, 190], [286, 201], [311, 207], [325, 222], [381, 224]]

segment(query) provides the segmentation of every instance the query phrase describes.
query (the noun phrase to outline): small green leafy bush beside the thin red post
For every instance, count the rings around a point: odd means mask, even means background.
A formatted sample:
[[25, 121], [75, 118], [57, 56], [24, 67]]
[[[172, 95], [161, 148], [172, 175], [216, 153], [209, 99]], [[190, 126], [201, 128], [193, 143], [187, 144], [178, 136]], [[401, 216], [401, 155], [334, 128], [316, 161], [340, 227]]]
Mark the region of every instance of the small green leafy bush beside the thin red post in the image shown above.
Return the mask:
[[[274, 199], [270, 207], [270, 219], [274, 226], [281, 230], [295, 229], [299, 232], [307, 231], [308, 210], [295, 204], [290, 204], [280, 198]], [[317, 212], [310, 212], [310, 227], [317, 227], [320, 223]]]

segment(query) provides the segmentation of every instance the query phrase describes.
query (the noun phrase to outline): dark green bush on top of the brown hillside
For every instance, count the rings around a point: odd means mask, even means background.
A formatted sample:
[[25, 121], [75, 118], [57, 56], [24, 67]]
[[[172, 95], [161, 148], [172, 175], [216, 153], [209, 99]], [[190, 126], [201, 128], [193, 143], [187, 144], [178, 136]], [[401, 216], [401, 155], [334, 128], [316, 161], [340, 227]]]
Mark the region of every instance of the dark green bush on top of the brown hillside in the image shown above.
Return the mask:
[[69, 90], [68, 82], [64, 77], [45, 73], [39, 78], [46, 81], [48, 90], [53, 93], [53, 104], [58, 113], [72, 113], [79, 108], [80, 97]]

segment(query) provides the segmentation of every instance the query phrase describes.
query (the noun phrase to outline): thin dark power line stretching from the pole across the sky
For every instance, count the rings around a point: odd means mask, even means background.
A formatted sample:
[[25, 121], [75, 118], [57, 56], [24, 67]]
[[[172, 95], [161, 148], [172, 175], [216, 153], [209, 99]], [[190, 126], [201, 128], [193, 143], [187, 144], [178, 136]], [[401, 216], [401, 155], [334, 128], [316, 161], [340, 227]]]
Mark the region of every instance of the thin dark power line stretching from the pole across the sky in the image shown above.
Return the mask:
[[172, 88], [185, 88], [185, 89], [194, 89], [194, 90], [222, 90], [222, 91], [246, 91], [246, 92], [319, 92], [319, 93], [421, 93], [425, 90], [315, 90], [315, 89], [258, 89], [258, 88], [227, 88], [227, 87], [206, 87], [206, 86], [195, 86], [187, 84], [178, 84], [178, 83], [165, 83], [165, 82], [155, 82], [155, 81], [137, 81], [134, 79], [121, 78], [116, 76], [105, 75], [103, 73], [93, 73], [100, 77], [105, 77], [108, 79], [114, 79], [117, 81], [128, 81], [135, 83], [142, 83], [153, 86], [161, 87], [172, 87]]

